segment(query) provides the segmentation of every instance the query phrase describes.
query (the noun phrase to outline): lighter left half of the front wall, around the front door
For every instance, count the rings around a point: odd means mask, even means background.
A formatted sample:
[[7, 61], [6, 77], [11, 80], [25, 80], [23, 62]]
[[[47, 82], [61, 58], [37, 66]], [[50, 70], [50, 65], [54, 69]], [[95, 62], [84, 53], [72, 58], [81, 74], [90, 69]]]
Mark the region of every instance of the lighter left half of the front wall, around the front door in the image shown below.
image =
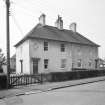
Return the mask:
[[[48, 41], [48, 51], [44, 51], [44, 41]], [[36, 45], [37, 44], [37, 45]], [[61, 52], [61, 42], [51, 40], [33, 39], [30, 40], [30, 59], [40, 58], [39, 60], [39, 73], [41, 72], [56, 72], [56, 71], [70, 71], [71, 70], [71, 46], [66, 44], [66, 51]], [[48, 69], [44, 69], [44, 59], [49, 59]], [[61, 69], [61, 59], [67, 59], [67, 65], [65, 69]], [[31, 60], [31, 72], [33, 71], [33, 65]]]

